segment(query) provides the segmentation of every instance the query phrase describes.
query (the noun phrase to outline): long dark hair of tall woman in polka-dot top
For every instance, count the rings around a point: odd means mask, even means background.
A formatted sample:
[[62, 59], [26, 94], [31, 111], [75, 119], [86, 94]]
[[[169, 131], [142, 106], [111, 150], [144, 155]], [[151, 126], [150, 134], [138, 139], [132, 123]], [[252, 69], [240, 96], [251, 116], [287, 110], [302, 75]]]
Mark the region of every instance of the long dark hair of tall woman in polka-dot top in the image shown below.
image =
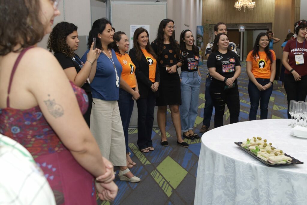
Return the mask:
[[[168, 24], [169, 22], [173, 22], [173, 20], [171, 19], [163, 19], [161, 22], [160, 22], [160, 25], [158, 27], [158, 32], [157, 32], [157, 38], [155, 40], [155, 43], [157, 44], [157, 56], [158, 56], [158, 59], [162, 53], [162, 50], [163, 50], [163, 42], [165, 40], [165, 37], [164, 37], [164, 31], [163, 29], [165, 29], [165, 26], [166, 24]], [[178, 42], [175, 40], [175, 32], [173, 32], [172, 36], [169, 37], [169, 42], [172, 46], [172, 49], [173, 51], [176, 53], [177, 56], [180, 56], [180, 49], [179, 49], [179, 44]]]

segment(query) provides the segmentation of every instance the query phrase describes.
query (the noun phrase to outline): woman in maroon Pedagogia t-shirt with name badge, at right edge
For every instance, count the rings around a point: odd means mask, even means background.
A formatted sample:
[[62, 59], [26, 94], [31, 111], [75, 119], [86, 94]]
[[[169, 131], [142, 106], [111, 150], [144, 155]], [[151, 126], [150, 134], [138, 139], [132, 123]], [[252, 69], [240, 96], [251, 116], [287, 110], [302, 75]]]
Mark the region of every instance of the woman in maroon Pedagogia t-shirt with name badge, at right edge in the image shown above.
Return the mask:
[[[291, 100], [305, 101], [307, 95], [307, 22], [295, 22], [294, 33], [297, 38], [288, 41], [282, 54], [288, 111]], [[291, 118], [289, 112], [288, 118]]]

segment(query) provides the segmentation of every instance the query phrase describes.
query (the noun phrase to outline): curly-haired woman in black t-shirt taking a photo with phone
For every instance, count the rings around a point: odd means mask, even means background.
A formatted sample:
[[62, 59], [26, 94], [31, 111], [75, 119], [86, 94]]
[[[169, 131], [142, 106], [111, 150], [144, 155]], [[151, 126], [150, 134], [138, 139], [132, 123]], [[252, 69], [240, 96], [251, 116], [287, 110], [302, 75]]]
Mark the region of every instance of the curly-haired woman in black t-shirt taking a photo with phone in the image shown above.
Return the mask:
[[87, 112], [83, 116], [88, 127], [90, 127], [91, 102], [93, 100], [90, 82], [95, 76], [96, 60], [101, 51], [97, 48], [91, 48], [90, 52], [87, 53], [86, 62], [83, 63], [75, 53], [80, 42], [77, 29], [78, 27], [73, 23], [60, 22], [56, 24], [49, 36], [47, 47], [50, 52], [54, 53], [68, 79], [86, 92], [90, 103], [88, 104]]

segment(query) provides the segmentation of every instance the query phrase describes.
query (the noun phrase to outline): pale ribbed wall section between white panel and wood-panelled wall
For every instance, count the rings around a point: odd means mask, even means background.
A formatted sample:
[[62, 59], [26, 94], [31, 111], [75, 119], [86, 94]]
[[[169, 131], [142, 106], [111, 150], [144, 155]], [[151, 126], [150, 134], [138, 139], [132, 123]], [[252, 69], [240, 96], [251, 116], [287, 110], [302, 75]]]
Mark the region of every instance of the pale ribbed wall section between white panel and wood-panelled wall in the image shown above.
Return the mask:
[[167, 18], [175, 22], [175, 37], [190, 29], [196, 36], [196, 26], [202, 25], [202, 0], [167, 0]]

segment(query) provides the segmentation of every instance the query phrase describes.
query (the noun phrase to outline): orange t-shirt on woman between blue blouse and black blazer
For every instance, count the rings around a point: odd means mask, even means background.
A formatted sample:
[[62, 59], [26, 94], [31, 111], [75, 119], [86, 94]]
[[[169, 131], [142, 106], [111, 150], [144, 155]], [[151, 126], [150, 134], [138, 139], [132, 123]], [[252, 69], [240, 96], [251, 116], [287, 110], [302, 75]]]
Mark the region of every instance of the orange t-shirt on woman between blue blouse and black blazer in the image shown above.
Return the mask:
[[134, 75], [135, 65], [131, 61], [128, 54], [122, 55], [116, 52], [116, 57], [122, 65], [122, 80], [124, 80], [130, 88], [136, 87], [136, 79]]

